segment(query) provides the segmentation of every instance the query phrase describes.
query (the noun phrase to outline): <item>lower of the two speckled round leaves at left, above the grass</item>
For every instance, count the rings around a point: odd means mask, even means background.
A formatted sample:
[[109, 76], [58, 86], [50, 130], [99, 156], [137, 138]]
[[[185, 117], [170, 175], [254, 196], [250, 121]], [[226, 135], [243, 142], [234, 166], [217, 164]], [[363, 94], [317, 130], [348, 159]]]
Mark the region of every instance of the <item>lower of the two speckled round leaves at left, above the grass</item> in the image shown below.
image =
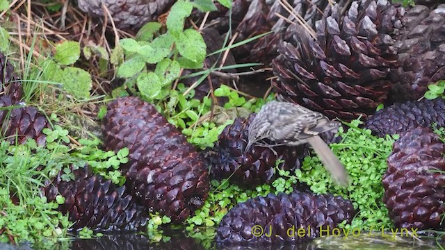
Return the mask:
[[63, 88], [74, 97], [81, 99], [90, 97], [92, 80], [88, 72], [78, 67], [66, 67], [60, 77]]

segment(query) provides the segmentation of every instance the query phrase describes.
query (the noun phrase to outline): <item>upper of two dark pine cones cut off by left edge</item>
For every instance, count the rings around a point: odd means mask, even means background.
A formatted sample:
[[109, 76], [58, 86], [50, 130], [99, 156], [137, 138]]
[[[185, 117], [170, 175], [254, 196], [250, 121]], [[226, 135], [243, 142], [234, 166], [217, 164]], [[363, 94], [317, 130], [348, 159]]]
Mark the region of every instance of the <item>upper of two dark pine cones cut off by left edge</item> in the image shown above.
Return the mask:
[[23, 97], [22, 82], [14, 72], [14, 67], [8, 62], [8, 57], [0, 52], [0, 95], [6, 94], [13, 103]]

